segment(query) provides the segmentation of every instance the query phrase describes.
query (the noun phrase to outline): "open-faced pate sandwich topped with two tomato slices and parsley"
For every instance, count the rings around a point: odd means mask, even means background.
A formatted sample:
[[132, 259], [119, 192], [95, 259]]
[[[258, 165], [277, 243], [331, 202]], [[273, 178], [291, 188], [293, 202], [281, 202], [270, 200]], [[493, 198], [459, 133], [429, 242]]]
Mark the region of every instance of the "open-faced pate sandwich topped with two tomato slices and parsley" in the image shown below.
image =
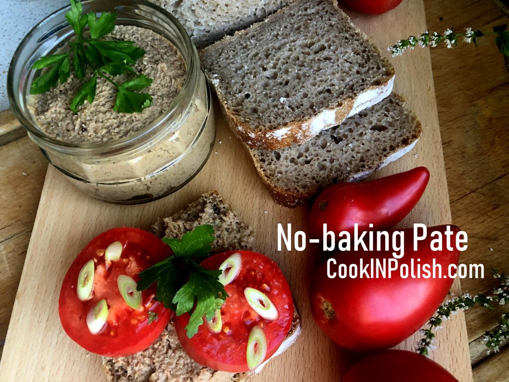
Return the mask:
[[243, 380], [300, 334], [288, 282], [252, 240], [215, 193], [153, 233], [108, 230], [64, 278], [64, 330], [109, 381]]

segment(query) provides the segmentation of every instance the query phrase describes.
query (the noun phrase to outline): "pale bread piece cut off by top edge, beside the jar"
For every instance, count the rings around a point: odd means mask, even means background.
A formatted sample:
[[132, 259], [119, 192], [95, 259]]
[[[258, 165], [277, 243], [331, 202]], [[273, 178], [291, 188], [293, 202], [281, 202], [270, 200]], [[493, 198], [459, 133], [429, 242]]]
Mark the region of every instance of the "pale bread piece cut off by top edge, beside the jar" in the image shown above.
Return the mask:
[[150, 0], [173, 14], [184, 25], [197, 47], [247, 28], [284, 7], [281, 0]]

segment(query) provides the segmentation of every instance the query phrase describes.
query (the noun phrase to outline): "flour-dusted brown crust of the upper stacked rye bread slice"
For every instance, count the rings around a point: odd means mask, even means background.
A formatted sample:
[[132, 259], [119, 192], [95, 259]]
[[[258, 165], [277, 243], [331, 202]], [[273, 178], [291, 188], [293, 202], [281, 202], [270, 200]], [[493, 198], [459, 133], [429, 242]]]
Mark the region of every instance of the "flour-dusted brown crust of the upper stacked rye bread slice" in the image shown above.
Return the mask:
[[[335, 0], [330, 0], [330, 2], [337, 12], [342, 13], [346, 20], [351, 22], [350, 17], [338, 7]], [[287, 7], [291, 6], [292, 4]], [[260, 28], [266, 22], [270, 22], [271, 17], [276, 17], [278, 14], [284, 12], [285, 9], [286, 7], [280, 9], [272, 16], [269, 16], [265, 21], [254, 23], [248, 29], [238, 31], [233, 36], [227, 36], [215, 44], [210, 45], [201, 51], [201, 56], [203, 57], [208, 49], [221, 49], [223, 45], [245, 35], [248, 31]], [[289, 147], [293, 144], [306, 142], [315, 137], [320, 131], [340, 124], [348, 116], [356, 114], [364, 108], [370, 107], [389, 96], [392, 92], [395, 77], [392, 64], [381, 56], [380, 49], [376, 47], [373, 41], [364, 32], [358, 29], [353, 23], [352, 25], [357, 34], [363, 36], [365, 40], [373, 45], [380, 55], [383, 66], [387, 68], [387, 74], [384, 78], [380, 79], [380, 85], [370, 86], [353, 98], [338, 100], [335, 106], [323, 109], [310, 118], [295, 120], [285, 125], [278, 126], [275, 129], [252, 128], [248, 122], [239, 119], [228, 107], [228, 100], [225, 99], [224, 95], [221, 93], [221, 88], [214, 84], [217, 78], [212, 78], [211, 74], [205, 70], [209, 84], [216, 91], [222, 114], [234, 134], [250, 148], [275, 150]], [[325, 115], [327, 115], [326, 119], [324, 118]]]

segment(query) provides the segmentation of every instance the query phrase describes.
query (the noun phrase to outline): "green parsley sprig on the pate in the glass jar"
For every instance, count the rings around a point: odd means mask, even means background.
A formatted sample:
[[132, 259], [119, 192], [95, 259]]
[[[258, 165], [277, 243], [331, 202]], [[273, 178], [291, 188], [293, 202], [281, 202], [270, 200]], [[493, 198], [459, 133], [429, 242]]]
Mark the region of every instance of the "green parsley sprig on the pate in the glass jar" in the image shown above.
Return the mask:
[[[152, 104], [152, 96], [139, 91], [152, 84], [152, 78], [145, 74], [137, 74], [133, 65], [142, 58], [145, 50], [134, 45], [133, 41], [101, 40], [115, 29], [115, 12], [103, 12], [99, 17], [94, 12], [83, 15], [83, 7], [79, 0], [70, 0], [71, 10], [66, 18], [72, 26], [76, 37], [69, 42], [70, 49], [66, 53], [52, 54], [37, 60], [33, 69], [48, 68], [34, 79], [30, 93], [42, 94], [60, 81], [65, 83], [71, 74], [71, 67], [78, 79], [83, 80], [71, 102], [70, 109], [77, 113], [80, 105], [87, 100], [95, 99], [97, 79], [104, 78], [117, 88], [114, 110], [119, 113], [139, 113]], [[88, 25], [90, 37], [83, 31]], [[85, 80], [88, 73], [90, 77]], [[123, 84], [117, 83], [113, 77], [128, 74], [133, 79]]]

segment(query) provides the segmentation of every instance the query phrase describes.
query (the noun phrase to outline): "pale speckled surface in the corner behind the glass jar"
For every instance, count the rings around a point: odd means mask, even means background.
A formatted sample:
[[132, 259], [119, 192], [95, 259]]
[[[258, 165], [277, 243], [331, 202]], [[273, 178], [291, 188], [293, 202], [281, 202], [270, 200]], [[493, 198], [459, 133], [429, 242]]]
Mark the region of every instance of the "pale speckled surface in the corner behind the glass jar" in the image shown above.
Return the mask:
[[68, 0], [0, 0], [0, 110], [9, 108], [7, 71], [23, 37], [44, 17], [69, 3]]

